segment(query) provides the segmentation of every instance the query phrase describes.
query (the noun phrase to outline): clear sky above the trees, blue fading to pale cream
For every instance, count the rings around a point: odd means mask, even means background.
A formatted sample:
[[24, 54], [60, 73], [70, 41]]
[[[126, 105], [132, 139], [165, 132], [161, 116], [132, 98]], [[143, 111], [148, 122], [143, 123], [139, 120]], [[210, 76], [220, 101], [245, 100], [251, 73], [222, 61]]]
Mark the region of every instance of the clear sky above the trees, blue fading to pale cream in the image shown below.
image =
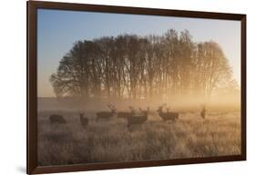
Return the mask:
[[241, 22], [156, 15], [119, 15], [38, 9], [37, 95], [55, 96], [49, 77], [60, 59], [78, 40], [118, 34], [164, 34], [168, 29], [185, 29], [195, 42], [220, 44], [229, 59], [234, 78], [241, 84]]

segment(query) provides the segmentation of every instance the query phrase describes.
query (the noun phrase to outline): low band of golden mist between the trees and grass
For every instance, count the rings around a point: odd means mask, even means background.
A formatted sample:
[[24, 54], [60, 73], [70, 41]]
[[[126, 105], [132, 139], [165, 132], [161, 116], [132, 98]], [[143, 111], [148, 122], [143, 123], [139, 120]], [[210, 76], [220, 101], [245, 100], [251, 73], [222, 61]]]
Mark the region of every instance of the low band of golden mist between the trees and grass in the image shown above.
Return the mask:
[[55, 97], [41, 97], [38, 98], [38, 111], [108, 111], [108, 103], [116, 106], [118, 111], [128, 111], [128, 106], [152, 109], [159, 108], [162, 104], [167, 104], [175, 111], [189, 111], [194, 112], [201, 110], [201, 105], [206, 104], [208, 111], [240, 111], [241, 110], [241, 94], [240, 92], [231, 94], [222, 94], [220, 96], [212, 97], [210, 100], [205, 100], [203, 97], [189, 97], [176, 95], [169, 100], [159, 100], [158, 98], [147, 100], [129, 100], [129, 99], [87, 99], [81, 100], [72, 97], [55, 98]]

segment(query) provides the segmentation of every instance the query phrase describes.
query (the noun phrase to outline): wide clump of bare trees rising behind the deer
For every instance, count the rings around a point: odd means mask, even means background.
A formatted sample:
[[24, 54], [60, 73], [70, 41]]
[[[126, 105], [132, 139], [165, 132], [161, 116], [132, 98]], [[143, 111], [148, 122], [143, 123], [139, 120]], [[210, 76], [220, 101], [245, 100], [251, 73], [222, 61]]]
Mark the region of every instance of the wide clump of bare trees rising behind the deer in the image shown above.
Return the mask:
[[233, 83], [220, 45], [196, 43], [188, 30], [120, 34], [77, 41], [50, 77], [56, 96], [149, 99], [211, 95]]

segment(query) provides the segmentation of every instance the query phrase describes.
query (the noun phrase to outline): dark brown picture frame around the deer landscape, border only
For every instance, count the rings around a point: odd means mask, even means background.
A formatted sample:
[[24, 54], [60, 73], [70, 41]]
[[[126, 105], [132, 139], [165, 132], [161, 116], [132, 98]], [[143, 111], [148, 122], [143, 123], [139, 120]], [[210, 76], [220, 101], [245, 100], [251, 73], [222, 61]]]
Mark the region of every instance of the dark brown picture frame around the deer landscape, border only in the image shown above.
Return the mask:
[[[110, 5], [84, 5], [56, 2], [28, 1], [27, 4], [27, 173], [52, 173], [81, 170], [110, 170], [122, 168], [166, 166], [178, 164], [207, 163], [246, 160], [246, 15], [167, 10]], [[241, 21], [241, 155], [179, 160], [147, 160], [134, 162], [114, 162], [78, 164], [67, 166], [37, 166], [37, 62], [36, 62], [36, 10], [56, 9], [71, 11], [108, 12], [134, 15], [162, 15], [205, 19], [227, 19]]]

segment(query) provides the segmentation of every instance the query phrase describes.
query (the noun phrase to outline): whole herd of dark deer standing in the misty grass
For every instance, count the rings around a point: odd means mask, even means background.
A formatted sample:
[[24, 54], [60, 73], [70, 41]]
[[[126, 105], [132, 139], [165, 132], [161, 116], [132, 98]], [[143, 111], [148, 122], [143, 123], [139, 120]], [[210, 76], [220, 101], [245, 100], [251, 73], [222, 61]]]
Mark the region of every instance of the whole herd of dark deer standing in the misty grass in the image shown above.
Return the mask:
[[[136, 110], [129, 106], [130, 112], [117, 112], [116, 108], [112, 104], [108, 104], [108, 107], [110, 108], [110, 112], [97, 112], [97, 118], [96, 121], [99, 120], [109, 120], [111, 117], [113, 117], [115, 114], [118, 118], [126, 119], [128, 123], [128, 127], [134, 124], [142, 124], [148, 120], [148, 112], [149, 107], [147, 110], [142, 110], [141, 108], [138, 108], [139, 112], [136, 112]], [[164, 105], [159, 106], [159, 109], [157, 112], [159, 113], [160, 118], [164, 121], [172, 121], [175, 122], [179, 118], [179, 112], [169, 112], [169, 108], [166, 109], [166, 112], [163, 111]], [[203, 106], [202, 111], [200, 112], [200, 116], [204, 119], [205, 118], [205, 107]], [[80, 112], [80, 122], [83, 127], [87, 127], [87, 124], [89, 122], [88, 118], [84, 116], [84, 112]], [[51, 123], [67, 123], [67, 121], [64, 119], [62, 115], [53, 114], [49, 117]]]

